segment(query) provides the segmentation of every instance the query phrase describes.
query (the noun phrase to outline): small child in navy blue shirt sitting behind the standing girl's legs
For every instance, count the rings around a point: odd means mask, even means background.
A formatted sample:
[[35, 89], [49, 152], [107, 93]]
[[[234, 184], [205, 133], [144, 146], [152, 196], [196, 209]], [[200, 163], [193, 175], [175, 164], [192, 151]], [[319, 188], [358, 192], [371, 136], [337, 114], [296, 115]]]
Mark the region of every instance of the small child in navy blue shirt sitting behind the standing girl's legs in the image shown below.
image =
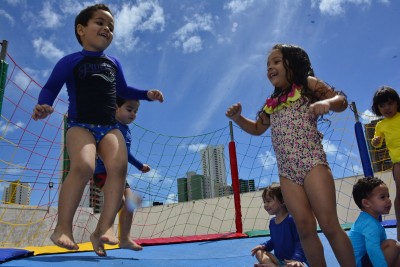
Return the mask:
[[264, 189], [262, 198], [264, 209], [275, 217], [269, 222], [271, 238], [251, 250], [251, 255], [255, 255], [260, 263], [254, 266], [306, 266], [307, 259], [296, 225], [283, 201], [281, 187], [276, 184], [268, 186]]

